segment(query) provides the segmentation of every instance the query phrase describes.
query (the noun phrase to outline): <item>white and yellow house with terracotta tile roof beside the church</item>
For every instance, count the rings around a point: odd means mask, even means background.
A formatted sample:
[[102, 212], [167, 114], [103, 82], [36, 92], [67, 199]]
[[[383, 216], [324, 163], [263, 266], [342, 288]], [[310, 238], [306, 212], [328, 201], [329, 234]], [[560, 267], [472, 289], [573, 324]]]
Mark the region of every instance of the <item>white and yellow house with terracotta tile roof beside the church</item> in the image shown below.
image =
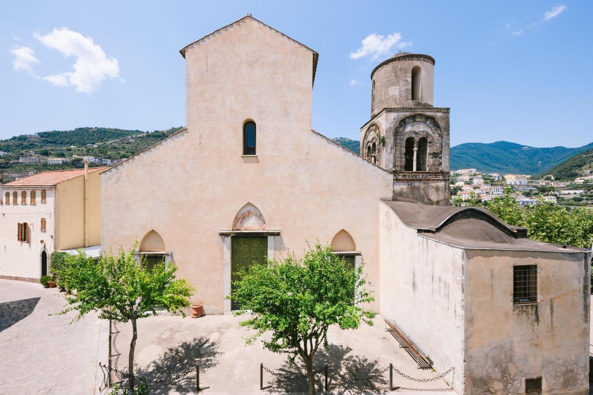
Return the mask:
[[0, 186], [0, 278], [37, 282], [49, 273], [54, 250], [101, 244], [99, 174], [105, 169], [85, 164]]

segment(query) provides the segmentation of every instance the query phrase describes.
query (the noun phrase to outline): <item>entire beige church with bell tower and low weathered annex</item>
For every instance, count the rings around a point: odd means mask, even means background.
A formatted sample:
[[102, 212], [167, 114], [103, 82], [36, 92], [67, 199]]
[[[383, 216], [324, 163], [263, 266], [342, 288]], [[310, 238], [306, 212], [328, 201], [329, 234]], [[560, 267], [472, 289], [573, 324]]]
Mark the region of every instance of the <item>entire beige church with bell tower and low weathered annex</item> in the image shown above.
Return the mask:
[[448, 206], [431, 56], [372, 72], [361, 157], [311, 129], [318, 54], [304, 44], [248, 15], [180, 52], [186, 129], [101, 174], [103, 250], [138, 240], [223, 314], [236, 270], [318, 239], [365, 263], [368, 308], [438, 372], [454, 367], [457, 393], [588, 393], [590, 253]]

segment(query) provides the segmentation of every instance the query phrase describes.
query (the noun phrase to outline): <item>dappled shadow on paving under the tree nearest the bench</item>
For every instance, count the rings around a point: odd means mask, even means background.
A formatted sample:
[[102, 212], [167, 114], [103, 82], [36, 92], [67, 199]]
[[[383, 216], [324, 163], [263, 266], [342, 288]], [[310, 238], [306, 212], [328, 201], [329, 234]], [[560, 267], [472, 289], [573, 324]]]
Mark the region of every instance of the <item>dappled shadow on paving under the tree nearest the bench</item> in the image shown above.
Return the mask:
[[[352, 355], [352, 348], [348, 346], [330, 344], [329, 350], [320, 347], [313, 360], [313, 369], [321, 369], [315, 374], [316, 387], [320, 392], [324, 391], [325, 375], [322, 368], [326, 364], [329, 365], [327, 383], [331, 393], [388, 390], [389, 373], [383, 371], [387, 365], [379, 365], [377, 359], [370, 360], [362, 355]], [[292, 378], [307, 373], [300, 356], [297, 356], [294, 365], [286, 362], [279, 369], [269, 369], [279, 377], [270, 377], [270, 374], [264, 371], [264, 388], [268, 386], [267, 390], [308, 393], [306, 378]], [[272, 381], [269, 381], [270, 379]], [[268, 380], [267, 384], [266, 380]]]

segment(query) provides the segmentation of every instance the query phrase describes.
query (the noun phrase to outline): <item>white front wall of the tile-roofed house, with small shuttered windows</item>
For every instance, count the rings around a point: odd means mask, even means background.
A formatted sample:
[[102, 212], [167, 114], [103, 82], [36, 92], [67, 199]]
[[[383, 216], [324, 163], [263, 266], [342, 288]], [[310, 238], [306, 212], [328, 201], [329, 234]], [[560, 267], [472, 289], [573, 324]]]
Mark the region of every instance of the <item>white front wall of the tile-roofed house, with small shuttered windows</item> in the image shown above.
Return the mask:
[[[41, 191], [46, 190], [46, 202], [41, 203]], [[2, 204], [0, 216], [0, 276], [4, 278], [39, 279], [41, 277], [41, 254], [46, 251], [49, 255], [54, 249], [54, 190], [52, 187], [2, 187], [2, 199], [6, 192], [18, 192], [18, 202], [21, 202], [21, 192], [27, 191], [27, 202], [31, 201], [31, 191], [35, 190], [37, 203], [35, 205], [6, 205]], [[46, 219], [46, 230], [41, 230], [41, 219]], [[29, 243], [17, 241], [18, 222], [29, 224]], [[43, 243], [41, 241], [43, 240]]]

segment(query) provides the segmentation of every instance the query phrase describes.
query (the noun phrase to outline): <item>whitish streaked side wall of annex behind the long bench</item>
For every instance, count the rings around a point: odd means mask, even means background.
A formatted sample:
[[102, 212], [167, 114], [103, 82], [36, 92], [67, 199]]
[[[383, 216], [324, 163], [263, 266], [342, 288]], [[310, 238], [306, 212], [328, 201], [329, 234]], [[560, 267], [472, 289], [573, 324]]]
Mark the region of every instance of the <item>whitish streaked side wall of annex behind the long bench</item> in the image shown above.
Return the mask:
[[[463, 393], [463, 250], [417, 235], [380, 204], [381, 314], [431, 355], [437, 372], [455, 367]], [[451, 375], [448, 375], [450, 380]]]

